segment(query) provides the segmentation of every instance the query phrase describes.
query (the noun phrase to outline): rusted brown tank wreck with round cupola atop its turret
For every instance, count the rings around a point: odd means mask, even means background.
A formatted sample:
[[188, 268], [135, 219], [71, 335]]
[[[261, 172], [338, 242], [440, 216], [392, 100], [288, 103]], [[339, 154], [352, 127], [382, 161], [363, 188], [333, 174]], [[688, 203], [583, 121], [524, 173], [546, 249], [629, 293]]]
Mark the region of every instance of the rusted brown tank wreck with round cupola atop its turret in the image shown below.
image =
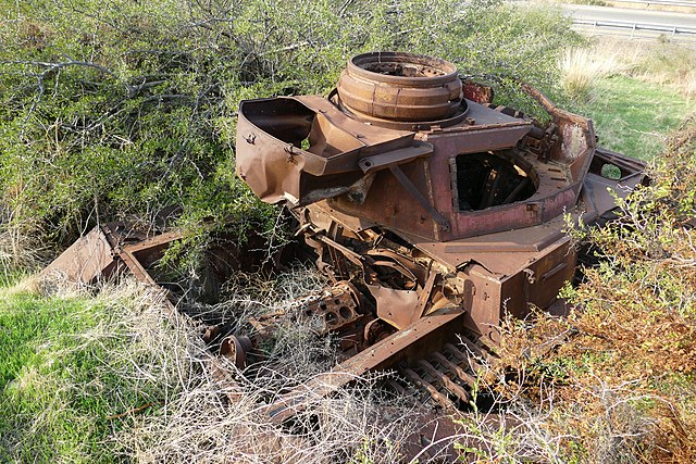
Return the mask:
[[[352, 58], [327, 98], [241, 102], [238, 176], [288, 206], [334, 283], [307, 314], [345, 361], [314, 394], [388, 368], [444, 409], [468, 404], [469, 354], [487, 355], [505, 317], [562, 312], [579, 260], [567, 222], [601, 221], [644, 165], [521, 87], [548, 122], [495, 104], [447, 61], [400, 52]], [[269, 414], [298, 407], [295, 391]]]

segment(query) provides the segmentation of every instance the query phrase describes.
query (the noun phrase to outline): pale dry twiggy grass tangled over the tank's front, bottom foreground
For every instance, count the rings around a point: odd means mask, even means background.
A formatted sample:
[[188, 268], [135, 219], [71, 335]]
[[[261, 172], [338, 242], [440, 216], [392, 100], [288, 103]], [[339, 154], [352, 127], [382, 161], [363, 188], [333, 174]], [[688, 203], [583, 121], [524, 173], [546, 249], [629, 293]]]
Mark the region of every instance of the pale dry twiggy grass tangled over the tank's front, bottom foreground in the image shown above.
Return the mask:
[[[279, 284], [247, 288], [253, 296], [235, 291], [224, 306], [214, 311], [228, 319], [291, 312], [298, 304], [297, 297], [311, 293], [318, 281], [312, 273], [297, 272], [284, 276]], [[107, 291], [100, 298], [113, 297]], [[128, 325], [142, 334], [151, 348], [147, 353], [134, 352], [123, 365], [137, 365], [137, 375], [162, 386], [161, 405], [151, 414], [119, 418], [122, 430], [110, 443], [117, 455], [142, 463], [368, 463], [397, 462], [402, 455], [403, 440], [417, 425], [415, 410], [406, 400], [385, 396], [376, 387], [377, 378], [357, 379], [353, 387], [331, 398], [313, 398], [311, 406], [298, 414], [291, 426], [274, 425], [263, 413], [262, 406], [283, 390], [335, 363], [333, 346], [318, 339], [309, 325], [290, 325], [289, 318], [282, 322], [263, 366], [239, 372], [223, 359], [235, 378], [234, 385], [223, 388], [206, 362], [199, 330], [183, 318], [170, 321], [169, 330], [162, 330], [157, 321], [144, 317], [149, 311]], [[111, 330], [103, 327], [101, 334]], [[142, 363], [142, 359], [154, 364]], [[134, 369], [112, 369], [112, 374], [134, 375]], [[232, 393], [234, 400], [229, 399]], [[393, 421], [381, 417], [385, 404]], [[125, 411], [130, 407], [124, 405]]]

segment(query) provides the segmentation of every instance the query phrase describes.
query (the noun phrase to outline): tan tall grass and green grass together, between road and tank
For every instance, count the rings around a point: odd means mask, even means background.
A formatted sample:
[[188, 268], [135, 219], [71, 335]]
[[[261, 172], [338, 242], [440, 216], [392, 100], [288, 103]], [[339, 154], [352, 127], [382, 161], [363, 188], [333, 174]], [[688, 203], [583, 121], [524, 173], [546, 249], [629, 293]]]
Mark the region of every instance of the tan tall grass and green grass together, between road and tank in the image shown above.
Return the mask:
[[696, 53], [688, 46], [601, 38], [560, 62], [560, 100], [595, 122], [599, 142], [650, 160], [696, 111]]

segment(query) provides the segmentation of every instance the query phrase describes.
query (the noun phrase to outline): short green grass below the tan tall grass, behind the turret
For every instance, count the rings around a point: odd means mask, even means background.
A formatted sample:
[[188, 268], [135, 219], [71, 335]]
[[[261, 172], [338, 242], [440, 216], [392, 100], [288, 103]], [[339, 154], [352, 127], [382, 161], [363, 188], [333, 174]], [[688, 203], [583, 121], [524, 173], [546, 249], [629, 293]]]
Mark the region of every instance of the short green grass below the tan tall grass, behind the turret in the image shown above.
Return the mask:
[[667, 86], [621, 75], [597, 79], [593, 96], [574, 110], [594, 121], [599, 145], [641, 160], [662, 152], [664, 137], [696, 111]]

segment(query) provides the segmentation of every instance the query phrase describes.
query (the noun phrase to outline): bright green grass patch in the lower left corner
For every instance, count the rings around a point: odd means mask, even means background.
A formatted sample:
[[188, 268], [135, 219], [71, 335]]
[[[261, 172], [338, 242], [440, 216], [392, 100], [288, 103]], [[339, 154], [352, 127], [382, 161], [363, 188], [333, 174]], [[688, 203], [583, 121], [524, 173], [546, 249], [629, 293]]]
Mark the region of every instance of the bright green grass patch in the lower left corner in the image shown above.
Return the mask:
[[0, 289], [0, 462], [122, 459], [113, 437], [133, 416], [111, 416], [159, 404], [167, 384], [123, 303]]

